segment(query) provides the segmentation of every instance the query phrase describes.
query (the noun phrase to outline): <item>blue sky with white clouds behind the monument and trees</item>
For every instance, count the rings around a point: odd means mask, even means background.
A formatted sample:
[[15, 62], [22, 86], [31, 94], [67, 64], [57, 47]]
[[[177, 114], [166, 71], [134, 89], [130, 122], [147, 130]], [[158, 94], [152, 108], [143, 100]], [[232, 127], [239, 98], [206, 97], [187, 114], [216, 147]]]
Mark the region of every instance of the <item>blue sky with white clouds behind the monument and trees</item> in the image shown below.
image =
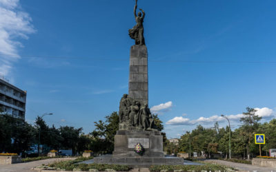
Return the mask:
[[[27, 90], [26, 120], [83, 127], [128, 93], [134, 0], [0, 0], [0, 73]], [[149, 106], [168, 138], [233, 128], [246, 107], [275, 118], [275, 1], [139, 0], [146, 12]]]

